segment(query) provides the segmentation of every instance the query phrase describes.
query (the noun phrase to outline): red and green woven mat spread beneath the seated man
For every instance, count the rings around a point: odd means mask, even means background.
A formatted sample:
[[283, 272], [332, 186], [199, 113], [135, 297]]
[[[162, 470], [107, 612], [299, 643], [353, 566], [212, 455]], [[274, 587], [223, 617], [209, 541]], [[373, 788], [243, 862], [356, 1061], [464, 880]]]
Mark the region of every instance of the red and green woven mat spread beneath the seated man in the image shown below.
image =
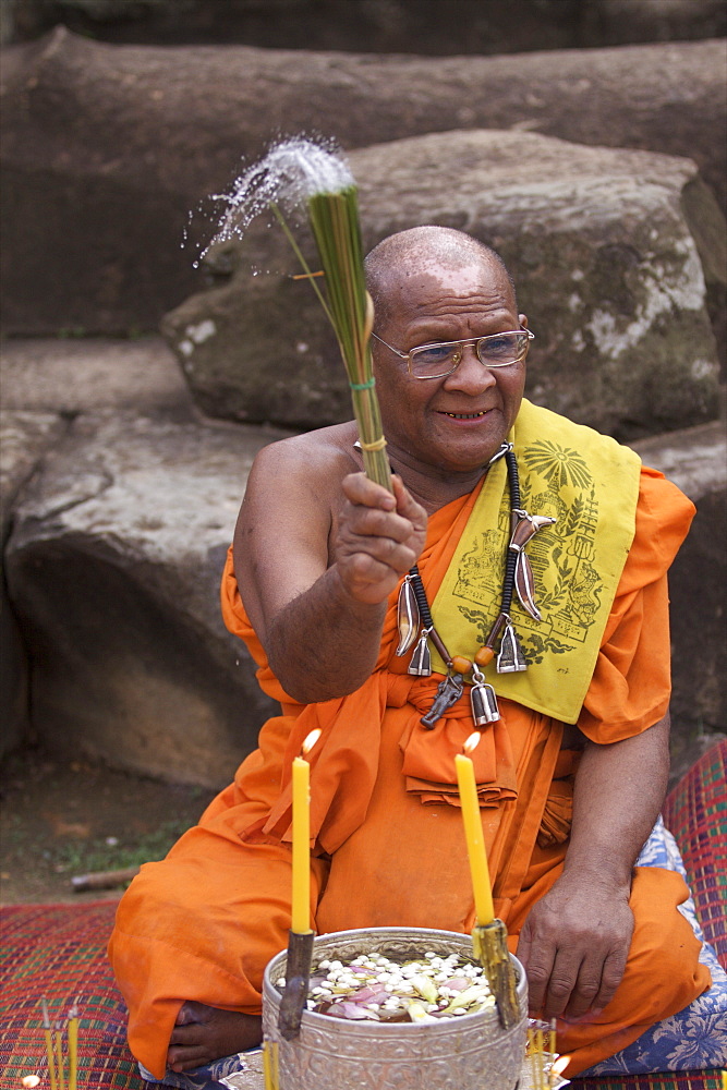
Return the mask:
[[[702, 927], [727, 968], [727, 743], [713, 747], [671, 792], [664, 819], [693, 879]], [[154, 1090], [137, 1073], [125, 1043], [125, 1010], [106, 944], [116, 906], [17, 905], [0, 909], [0, 1090], [25, 1075], [48, 1087], [39, 998], [51, 1018], [65, 1018], [77, 996], [78, 1090]], [[573, 1079], [574, 1090], [722, 1090], [718, 1071]]]

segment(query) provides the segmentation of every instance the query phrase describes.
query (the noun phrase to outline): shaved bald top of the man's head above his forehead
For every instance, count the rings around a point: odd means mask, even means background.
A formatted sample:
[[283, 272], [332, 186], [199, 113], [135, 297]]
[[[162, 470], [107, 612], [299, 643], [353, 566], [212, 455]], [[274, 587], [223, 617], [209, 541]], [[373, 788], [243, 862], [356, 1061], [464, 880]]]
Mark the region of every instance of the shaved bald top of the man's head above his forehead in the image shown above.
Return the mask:
[[507, 277], [517, 311], [514, 282], [500, 255], [478, 239], [450, 227], [412, 227], [391, 234], [374, 246], [364, 264], [377, 326], [388, 322], [397, 287], [428, 272], [433, 266], [443, 270], [469, 266], [480, 266], [485, 272], [496, 270]]

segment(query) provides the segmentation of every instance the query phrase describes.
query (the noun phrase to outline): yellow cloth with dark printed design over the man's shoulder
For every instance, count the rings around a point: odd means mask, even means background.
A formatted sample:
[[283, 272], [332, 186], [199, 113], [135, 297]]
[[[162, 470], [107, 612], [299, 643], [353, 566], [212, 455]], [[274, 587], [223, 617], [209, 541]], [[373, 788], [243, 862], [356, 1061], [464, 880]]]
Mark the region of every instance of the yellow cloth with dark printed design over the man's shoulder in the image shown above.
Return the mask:
[[[529, 668], [498, 676], [489, 669], [487, 680], [498, 694], [574, 723], [633, 540], [641, 462], [614, 439], [528, 401], [510, 440], [523, 507], [556, 522], [526, 547], [542, 620], [517, 602], [512, 606]], [[471, 658], [497, 617], [509, 532], [501, 459], [485, 480], [435, 598], [435, 625], [450, 654]], [[433, 666], [444, 671], [437, 656]]]

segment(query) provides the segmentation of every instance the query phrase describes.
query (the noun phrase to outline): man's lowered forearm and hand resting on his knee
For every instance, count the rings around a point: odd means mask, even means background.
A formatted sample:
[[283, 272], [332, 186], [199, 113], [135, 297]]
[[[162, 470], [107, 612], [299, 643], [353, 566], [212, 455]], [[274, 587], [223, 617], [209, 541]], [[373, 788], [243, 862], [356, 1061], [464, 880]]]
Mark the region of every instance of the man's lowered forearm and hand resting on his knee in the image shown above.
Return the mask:
[[607, 746], [586, 742], [561, 876], [533, 907], [518, 957], [531, 1010], [602, 1010], [621, 981], [633, 933], [631, 872], [664, 801], [669, 717]]

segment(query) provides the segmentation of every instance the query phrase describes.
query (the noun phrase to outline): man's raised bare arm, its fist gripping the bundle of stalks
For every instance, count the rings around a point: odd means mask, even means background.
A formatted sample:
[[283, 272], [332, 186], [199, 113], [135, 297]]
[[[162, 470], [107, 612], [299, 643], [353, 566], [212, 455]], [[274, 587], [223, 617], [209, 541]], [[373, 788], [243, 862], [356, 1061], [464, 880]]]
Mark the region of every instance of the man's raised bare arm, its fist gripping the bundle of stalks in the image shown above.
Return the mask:
[[399, 480], [393, 496], [362, 473], [331, 484], [315, 459], [305, 472], [294, 447], [275, 446], [250, 476], [235, 576], [286, 692], [330, 700], [374, 669], [386, 600], [419, 557], [426, 513]]

